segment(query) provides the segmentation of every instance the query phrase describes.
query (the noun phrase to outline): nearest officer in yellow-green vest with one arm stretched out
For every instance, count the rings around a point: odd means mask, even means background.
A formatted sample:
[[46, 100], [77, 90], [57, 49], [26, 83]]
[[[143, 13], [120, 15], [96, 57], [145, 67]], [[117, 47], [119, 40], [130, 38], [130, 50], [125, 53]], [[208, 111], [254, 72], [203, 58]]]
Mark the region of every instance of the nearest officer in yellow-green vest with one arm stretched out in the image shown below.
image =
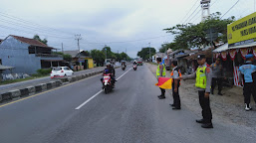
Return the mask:
[[180, 79], [188, 79], [196, 77], [195, 86], [197, 87], [199, 94], [199, 103], [202, 108], [202, 119], [196, 120], [197, 123], [202, 123], [202, 128], [213, 128], [212, 125], [212, 113], [210, 108], [210, 86], [212, 79], [212, 71], [206, 64], [205, 55], [199, 55], [197, 57], [197, 63], [199, 67], [196, 72], [192, 74], [179, 77]]

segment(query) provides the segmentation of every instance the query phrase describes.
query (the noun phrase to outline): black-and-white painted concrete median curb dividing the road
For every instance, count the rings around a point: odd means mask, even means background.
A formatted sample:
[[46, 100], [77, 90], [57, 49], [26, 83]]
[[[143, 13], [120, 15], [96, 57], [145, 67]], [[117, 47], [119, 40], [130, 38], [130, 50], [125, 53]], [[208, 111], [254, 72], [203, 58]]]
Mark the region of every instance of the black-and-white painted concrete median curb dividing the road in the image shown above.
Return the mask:
[[[118, 69], [118, 68], [120, 68], [120, 67], [116, 67], [115, 69]], [[82, 73], [82, 74], [72, 75], [72, 76], [68, 76], [68, 77], [67, 76], [61, 77], [61, 78], [58, 78], [57, 80], [49, 81], [46, 83], [39, 83], [39, 84], [32, 85], [32, 86], [12, 89], [12, 90], [0, 93], [0, 102], [8, 101], [13, 98], [28, 96], [28, 95], [35, 94], [40, 91], [52, 89], [52, 88], [61, 86], [64, 82], [78, 81], [78, 80], [85, 79], [87, 77], [90, 77], [90, 76], [93, 76], [96, 74], [100, 74], [102, 72], [103, 71], [92, 71], [89, 73]]]

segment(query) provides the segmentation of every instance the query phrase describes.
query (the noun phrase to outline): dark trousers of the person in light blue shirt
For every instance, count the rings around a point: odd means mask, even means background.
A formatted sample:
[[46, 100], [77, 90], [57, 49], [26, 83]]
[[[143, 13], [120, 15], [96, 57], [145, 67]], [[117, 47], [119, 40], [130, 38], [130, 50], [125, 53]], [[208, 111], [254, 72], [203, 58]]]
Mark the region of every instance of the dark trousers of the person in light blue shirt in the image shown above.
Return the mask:
[[245, 82], [243, 87], [244, 103], [249, 104], [251, 102], [251, 95], [253, 95], [256, 102], [256, 84], [252, 82]]

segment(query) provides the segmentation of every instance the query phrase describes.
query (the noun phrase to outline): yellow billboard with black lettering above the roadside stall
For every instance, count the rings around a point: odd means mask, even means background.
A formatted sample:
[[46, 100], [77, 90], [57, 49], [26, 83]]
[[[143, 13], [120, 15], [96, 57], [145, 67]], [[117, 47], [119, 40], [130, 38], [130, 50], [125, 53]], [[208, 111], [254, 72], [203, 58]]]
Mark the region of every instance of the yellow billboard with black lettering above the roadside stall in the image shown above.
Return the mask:
[[227, 26], [229, 47], [256, 42], [256, 12]]

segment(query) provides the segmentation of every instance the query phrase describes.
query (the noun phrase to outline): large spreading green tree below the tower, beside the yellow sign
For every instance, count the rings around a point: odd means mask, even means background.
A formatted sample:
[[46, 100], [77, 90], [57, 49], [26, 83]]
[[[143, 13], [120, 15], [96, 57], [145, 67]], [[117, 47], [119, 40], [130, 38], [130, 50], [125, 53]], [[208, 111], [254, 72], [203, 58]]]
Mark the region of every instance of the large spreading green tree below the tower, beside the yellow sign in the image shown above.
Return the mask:
[[209, 45], [206, 40], [205, 31], [214, 28], [222, 36], [219, 36], [216, 40], [217, 42], [222, 41], [227, 42], [227, 25], [235, 20], [235, 17], [230, 17], [228, 19], [220, 19], [221, 13], [216, 12], [211, 14], [211, 16], [199, 23], [199, 24], [186, 24], [186, 25], [176, 25], [172, 28], [164, 29], [167, 33], [175, 35], [173, 40], [174, 49], [188, 49], [191, 47], [201, 47], [202, 45]]

